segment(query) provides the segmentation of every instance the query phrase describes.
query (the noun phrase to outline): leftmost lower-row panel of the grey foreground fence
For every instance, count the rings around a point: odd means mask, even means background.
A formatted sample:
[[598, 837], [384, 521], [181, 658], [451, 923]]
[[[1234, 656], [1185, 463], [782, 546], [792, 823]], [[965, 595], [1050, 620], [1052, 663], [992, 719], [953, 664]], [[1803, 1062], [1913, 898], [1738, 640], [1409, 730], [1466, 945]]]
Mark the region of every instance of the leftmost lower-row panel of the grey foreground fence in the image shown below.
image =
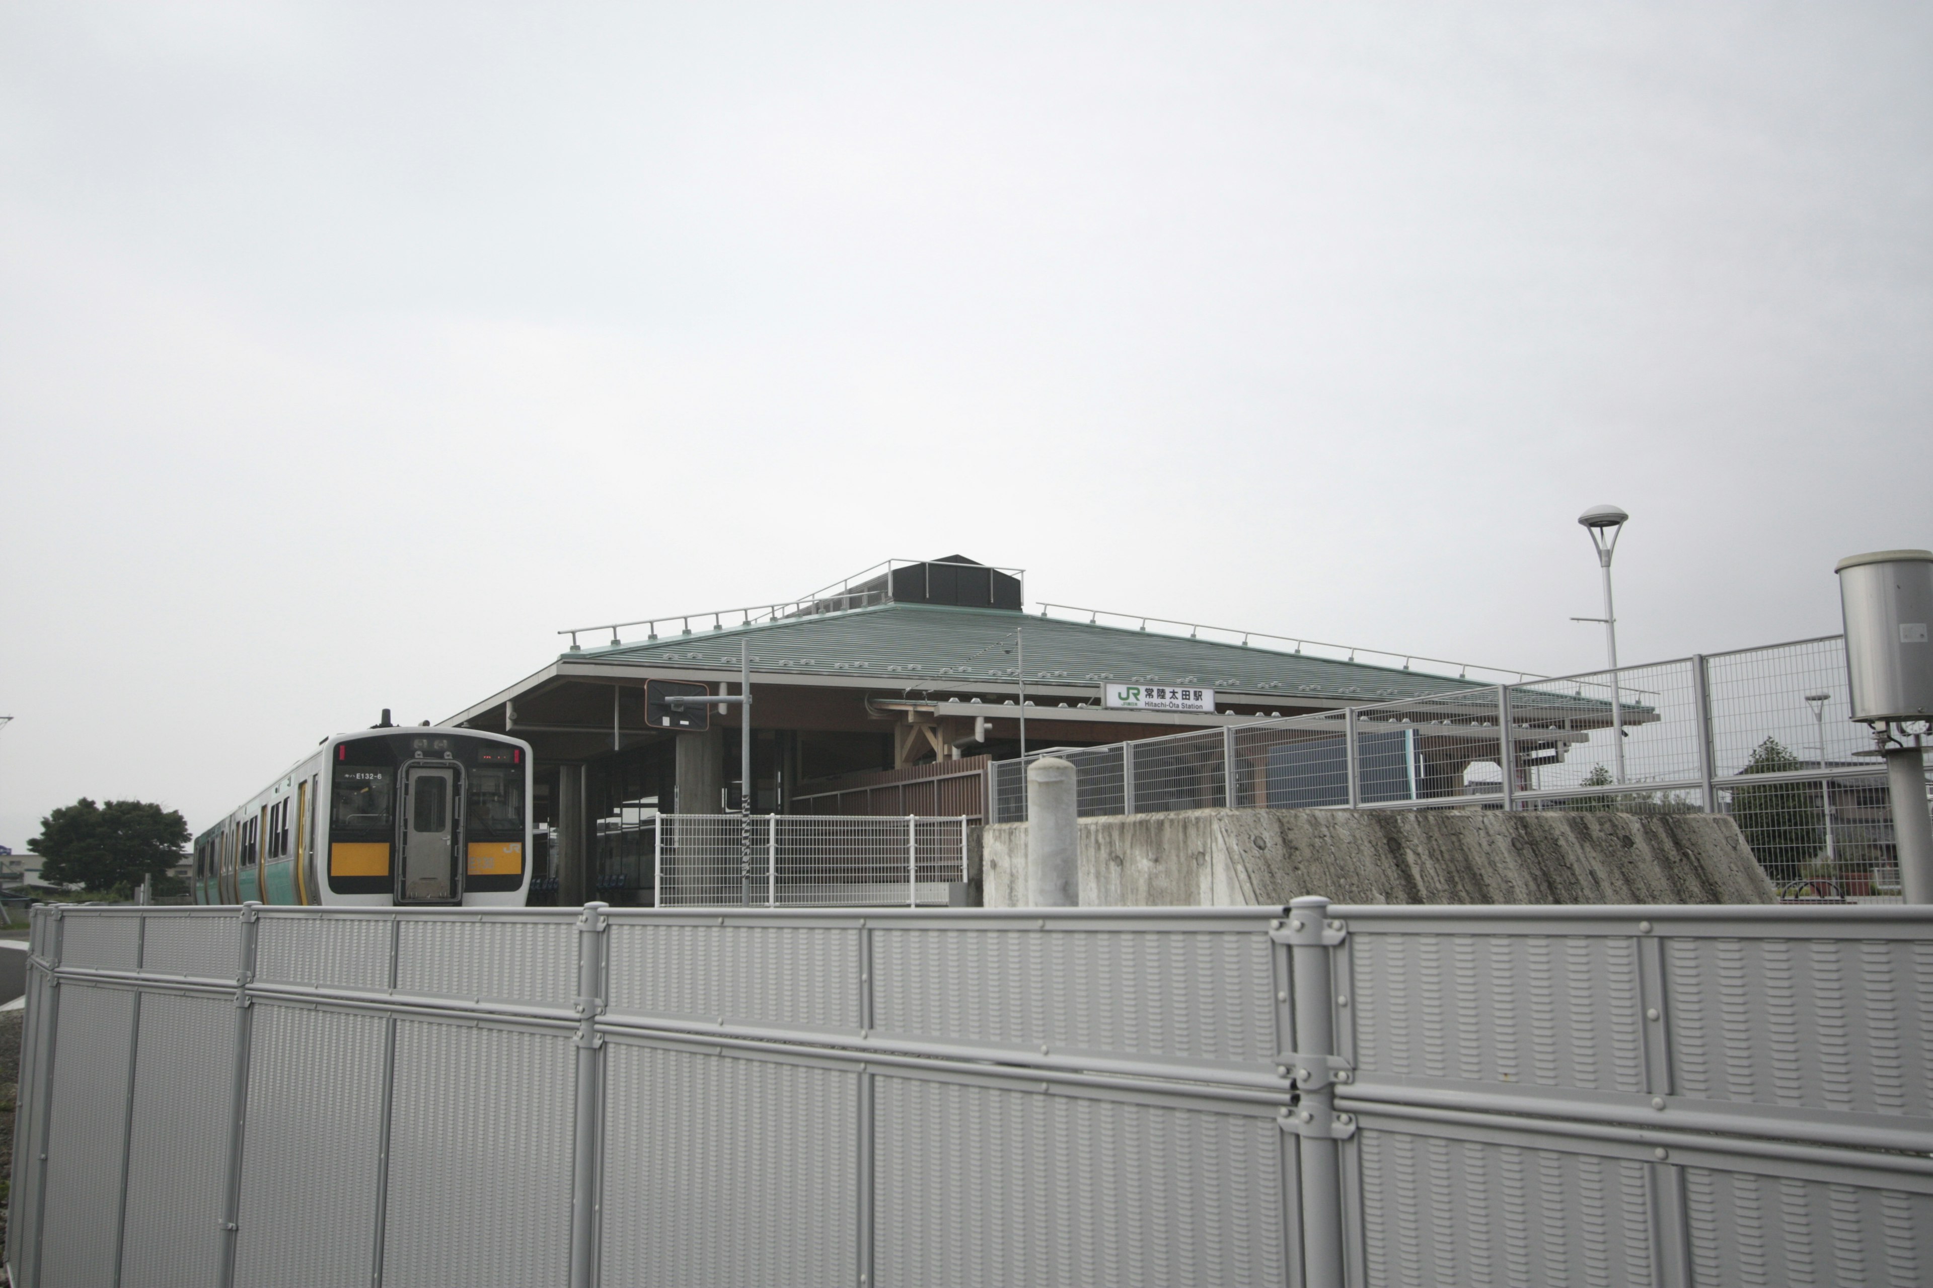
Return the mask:
[[[81, 933], [73, 938], [101, 944], [108, 937]], [[101, 954], [89, 956], [99, 960]], [[46, 1199], [39, 1215], [41, 1282], [48, 1288], [114, 1278], [135, 998], [128, 989], [72, 981], [62, 983], [58, 993], [60, 1045], [54, 1050], [41, 1180]]]

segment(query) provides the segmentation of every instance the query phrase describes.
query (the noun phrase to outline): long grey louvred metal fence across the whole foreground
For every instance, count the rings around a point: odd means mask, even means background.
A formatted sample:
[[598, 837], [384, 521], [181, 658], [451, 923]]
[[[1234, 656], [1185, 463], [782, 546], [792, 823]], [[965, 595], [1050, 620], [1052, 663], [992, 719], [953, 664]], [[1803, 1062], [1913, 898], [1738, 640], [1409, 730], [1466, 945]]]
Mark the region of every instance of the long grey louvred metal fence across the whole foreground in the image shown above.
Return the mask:
[[1933, 910], [54, 908], [23, 1288], [1923, 1284]]

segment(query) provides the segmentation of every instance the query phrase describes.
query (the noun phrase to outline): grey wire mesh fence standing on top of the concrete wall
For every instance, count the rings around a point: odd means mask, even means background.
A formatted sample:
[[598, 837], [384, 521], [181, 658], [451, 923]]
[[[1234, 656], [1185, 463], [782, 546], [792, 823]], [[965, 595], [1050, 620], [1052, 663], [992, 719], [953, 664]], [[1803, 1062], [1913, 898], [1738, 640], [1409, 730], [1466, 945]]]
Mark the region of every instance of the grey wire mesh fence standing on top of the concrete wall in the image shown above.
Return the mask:
[[[1042, 749], [1084, 817], [1208, 809], [1730, 813], [1786, 898], [1898, 898], [1885, 765], [1850, 718], [1842, 635]], [[995, 823], [1026, 761], [992, 767]], [[1927, 807], [1921, 799], [1919, 809]]]

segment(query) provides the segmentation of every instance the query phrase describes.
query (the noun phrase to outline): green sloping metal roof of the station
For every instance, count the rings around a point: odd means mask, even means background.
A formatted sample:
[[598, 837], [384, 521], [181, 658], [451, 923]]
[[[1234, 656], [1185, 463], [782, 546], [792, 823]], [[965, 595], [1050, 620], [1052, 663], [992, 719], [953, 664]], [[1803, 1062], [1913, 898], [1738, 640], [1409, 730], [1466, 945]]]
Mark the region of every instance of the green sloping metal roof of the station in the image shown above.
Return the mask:
[[[646, 643], [566, 653], [566, 658], [661, 662], [680, 668], [738, 668], [738, 639], [750, 639], [752, 666], [767, 676], [860, 676], [880, 687], [943, 693], [1011, 686], [1015, 628], [1026, 635], [1026, 680], [1042, 686], [1121, 684], [1200, 686], [1218, 693], [1386, 703], [1411, 697], [1481, 693], [1492, 686], [1394, 666], [1370, 666], [1305, 653], [1189, 639], [1158, 631], [1065, 622], [988, 608], [878, 604], [851, 612], [696, 630]], [[1552, 705], [1599, 713], [1606, 703], [1541, 691]], [[1544, 705], [1543, 701], [1539, 705]]]

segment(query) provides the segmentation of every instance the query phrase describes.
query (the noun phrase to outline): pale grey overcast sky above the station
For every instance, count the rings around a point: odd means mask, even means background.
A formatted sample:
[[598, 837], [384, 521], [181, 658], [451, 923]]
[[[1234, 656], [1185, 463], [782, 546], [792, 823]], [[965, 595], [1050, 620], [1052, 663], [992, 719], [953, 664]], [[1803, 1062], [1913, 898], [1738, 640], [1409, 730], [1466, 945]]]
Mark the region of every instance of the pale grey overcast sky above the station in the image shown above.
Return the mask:
[[[1543, 672], [1933, 545], [1919, 4], [0, 10], [0, 842], [885, 556]], [[669, 475], [678, 475], [669, 483]]]

